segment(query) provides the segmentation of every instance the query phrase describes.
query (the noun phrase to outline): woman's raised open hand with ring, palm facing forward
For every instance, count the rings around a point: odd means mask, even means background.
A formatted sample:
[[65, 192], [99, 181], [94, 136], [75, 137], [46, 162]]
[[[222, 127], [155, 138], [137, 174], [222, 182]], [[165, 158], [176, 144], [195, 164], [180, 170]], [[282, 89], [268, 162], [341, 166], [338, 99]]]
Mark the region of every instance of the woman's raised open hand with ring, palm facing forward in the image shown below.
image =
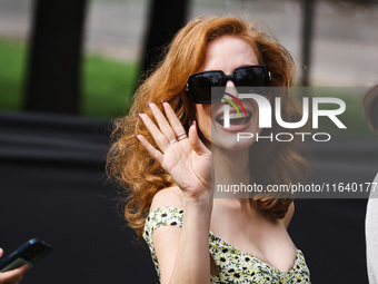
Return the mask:
[[210, 193], [211, 151], [199, 139], [196, 121], [190, 126], [187, 136], [170, 105], [162, 102], [162, 106], [169, 121], [155, 104], [149, 104], [158, 126], [148, 115], [139, 115], [160, 150], [142, 135], [136, 137], [151, 157], [171, 175], [186, 197], [199, 198], [203, 193]]

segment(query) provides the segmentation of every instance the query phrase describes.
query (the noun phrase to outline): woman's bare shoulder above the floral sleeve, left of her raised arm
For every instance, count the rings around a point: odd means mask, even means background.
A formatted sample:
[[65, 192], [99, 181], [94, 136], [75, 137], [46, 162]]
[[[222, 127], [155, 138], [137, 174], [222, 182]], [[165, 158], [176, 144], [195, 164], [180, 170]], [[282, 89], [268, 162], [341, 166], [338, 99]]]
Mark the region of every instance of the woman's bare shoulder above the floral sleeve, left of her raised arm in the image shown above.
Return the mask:
[[182, 192], [178, 186], [159, 190], [152, 198], [150, 212], [166, 206], [182, 208]]

